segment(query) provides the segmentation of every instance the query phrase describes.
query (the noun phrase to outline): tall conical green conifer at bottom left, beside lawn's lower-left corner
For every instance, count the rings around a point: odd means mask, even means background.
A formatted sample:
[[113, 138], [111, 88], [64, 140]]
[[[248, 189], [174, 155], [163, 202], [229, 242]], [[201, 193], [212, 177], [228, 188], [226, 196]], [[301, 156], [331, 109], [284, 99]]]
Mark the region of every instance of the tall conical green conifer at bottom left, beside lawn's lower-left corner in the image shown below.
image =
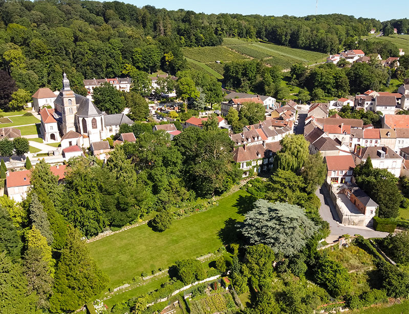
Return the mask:
[[70, 226], [67, 243], [61, 251], [55, 273], [50, 309], [54, 312], [74, 311], [99, 295], [107, 281], [107, 277], [90, 257], [78, 230]]

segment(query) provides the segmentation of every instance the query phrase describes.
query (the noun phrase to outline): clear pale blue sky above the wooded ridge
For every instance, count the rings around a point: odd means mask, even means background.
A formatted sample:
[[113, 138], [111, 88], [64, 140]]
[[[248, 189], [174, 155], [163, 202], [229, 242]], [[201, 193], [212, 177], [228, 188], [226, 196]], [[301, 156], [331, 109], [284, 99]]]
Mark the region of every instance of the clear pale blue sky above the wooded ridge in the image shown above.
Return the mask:
[[[132, 3], [138, 7], [152, 5], [156, 8], [168, 10], [193, 10], [204, 13], [241, 13], [261, 15], [295, 15], [305, 16], [315, 14], [315, 0], [119, 0]], [[408, 17], [408, 6], [403, 9], [407, 0], [398, 1], [394, 6], [401, 9], [393, 9], [385, 6], [381, 0], [343, 0], [330, 1], [318, 0], [318, 14], [342, 13], [354, 15], [355, 17], [374, 17], [381, 21], [392, 18]], [[385, 10], [385, 8], [388, 8]]]

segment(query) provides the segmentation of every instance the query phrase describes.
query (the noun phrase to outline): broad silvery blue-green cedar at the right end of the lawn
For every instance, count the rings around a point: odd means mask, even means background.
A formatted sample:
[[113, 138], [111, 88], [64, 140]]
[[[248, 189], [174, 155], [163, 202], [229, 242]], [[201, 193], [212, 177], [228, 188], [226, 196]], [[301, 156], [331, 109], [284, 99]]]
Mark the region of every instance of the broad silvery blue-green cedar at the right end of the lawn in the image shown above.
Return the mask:
[[268, 245], [285, 256], [298, 253], [318, 230], [303, 208], [286, 203], [259, 199], [245, 217], [242, 233], [251, 244]]

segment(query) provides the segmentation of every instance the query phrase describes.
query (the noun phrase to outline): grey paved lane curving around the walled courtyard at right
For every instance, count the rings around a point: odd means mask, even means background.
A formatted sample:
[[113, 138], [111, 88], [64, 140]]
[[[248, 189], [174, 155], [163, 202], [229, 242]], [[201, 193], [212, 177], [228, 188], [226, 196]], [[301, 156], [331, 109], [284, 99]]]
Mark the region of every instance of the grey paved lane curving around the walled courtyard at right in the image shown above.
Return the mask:
[[321, 207], [319, 207], [319, 214], [321, 218], [328, 221], [330, 224], [331, 234], [327, 238], [328, 243], [336, 240], [339, 236], [348, 235], [361, 235], [364, 238], [384, 238], [389, 235], [387, 232], [379, 232], [365, 226], [347, 226], [339, 223], [338, 214], [336, 213], [335, 206], [332, 203], [329, 192], [325, 187], [320, 187], [315, 192], [321, 201]]

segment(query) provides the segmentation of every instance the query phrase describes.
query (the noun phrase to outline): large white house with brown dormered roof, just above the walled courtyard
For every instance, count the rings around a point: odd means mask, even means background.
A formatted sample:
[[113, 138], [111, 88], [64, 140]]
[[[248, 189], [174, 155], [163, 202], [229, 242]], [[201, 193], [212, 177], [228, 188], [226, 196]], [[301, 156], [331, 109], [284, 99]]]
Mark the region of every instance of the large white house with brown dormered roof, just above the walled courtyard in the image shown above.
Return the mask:
[[400, 176], [403, 158], [393, 149], [387, 146], [364, 147], [354, 152], [355, 164], [366, 162], [368, 157], [371, 157], [374, 168], [386, 169], [397, 178]]

